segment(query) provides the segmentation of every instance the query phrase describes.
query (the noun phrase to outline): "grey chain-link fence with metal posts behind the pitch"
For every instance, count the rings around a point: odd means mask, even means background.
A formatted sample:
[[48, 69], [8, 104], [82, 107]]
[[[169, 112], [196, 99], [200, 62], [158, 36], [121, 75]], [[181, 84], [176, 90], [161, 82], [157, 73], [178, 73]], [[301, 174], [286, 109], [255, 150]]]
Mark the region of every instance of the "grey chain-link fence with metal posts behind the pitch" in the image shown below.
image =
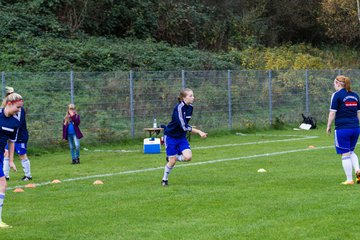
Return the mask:
[[30, 142], [57, 144], [67, 105], [81, 115], [85, 142], [146, 136], [143, 128], [170, 121], [183, 87], [194, 90], [191, 125], [205, 131], [298, 126], [301, 113], [327, 119], [333, 79], [349, 76], [360, 91], [360, 70], [2, 73], [25, 99]]

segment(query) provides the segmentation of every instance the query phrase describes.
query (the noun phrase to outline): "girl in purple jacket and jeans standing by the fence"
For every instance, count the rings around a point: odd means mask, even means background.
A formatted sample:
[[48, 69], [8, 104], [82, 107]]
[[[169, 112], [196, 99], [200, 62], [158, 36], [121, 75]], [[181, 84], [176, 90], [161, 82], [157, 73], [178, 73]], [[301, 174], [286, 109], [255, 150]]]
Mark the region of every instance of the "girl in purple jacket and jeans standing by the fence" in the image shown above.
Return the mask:
[[72, 164], [80, 163], [80, 138], [83, 137], [80, 128], [80, 115], [76, 113], [75, 105], [69, 104], [64, 117], [63, 139], [69, 142]]

